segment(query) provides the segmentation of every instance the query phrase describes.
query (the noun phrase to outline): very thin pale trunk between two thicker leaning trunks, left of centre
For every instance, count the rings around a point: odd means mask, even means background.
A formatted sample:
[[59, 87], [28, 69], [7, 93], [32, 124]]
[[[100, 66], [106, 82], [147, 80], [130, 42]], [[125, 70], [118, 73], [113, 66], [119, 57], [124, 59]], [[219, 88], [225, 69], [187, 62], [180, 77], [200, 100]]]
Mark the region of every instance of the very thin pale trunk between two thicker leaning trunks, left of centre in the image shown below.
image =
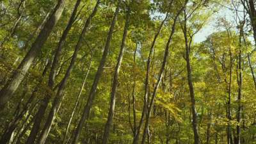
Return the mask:
[[77, 104], [78, 104], [79, 98], [80, 98], [80, 96], [81, 96], [81, 94], [82, 94], [82, 91], [83, 91], [83, 88], [84, 88], [84, 84], [85, 84], [86, 78], [87, 78], [87, 76], [88, 76], [88, 74], [89, 74], [89, 71], [90, 71], [91, 65], [92, 65], [92, 56], [91, 56], [90, 65], [89, 65], [88, 70], [87, 70], [87, 72], [86, 72], [86, 76], [84, 77], [83, 84], [82, 84], [82, 86], [81, 86], [80, 92], [79, 92], [78, 97], [77, 97], [77, 99], [76, 99], [76, 103], [75, 103], [74, 108], [73, 108], [73, 111], [72, 111], [72, 113], [71, 113], [71, 115], [70, 115], [70, 118], [69, 118], [69, 121], [68, 121], [68, 125], [67, 125], [66, 131], [65, 131], [65, 135], [64, 135], [64, 138], [63, 138], [62, 144], [64, 144], [64, 143], [65, 143], [65, 139], [66, 139], [67, 134], [68, 134], [68, 128], [69, 128], [69, 126], [70, 126], [70, 124], [71, 124], [72, 117], [73, 117], [74, 112], [75, 112], [75, 110], [76, 110], [76, 107], [77, 107]]

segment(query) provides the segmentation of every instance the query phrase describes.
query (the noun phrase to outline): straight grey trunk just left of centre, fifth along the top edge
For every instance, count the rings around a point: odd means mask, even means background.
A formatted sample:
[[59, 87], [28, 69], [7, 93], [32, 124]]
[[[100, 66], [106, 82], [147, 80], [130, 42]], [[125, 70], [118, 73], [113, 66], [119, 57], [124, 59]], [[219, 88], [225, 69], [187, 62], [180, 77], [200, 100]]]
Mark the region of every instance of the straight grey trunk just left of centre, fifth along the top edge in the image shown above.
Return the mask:
[[133, 0], [131, 1], [131, 3], [129, 4], [129, 7], [128, 7], [128, 12], [127, 12], [127, 17], [126, 17], [125, 27], [124, 27], [124, 34], [123, 34], [122, 44], [121, 44], [121, 49], [120, 49], [118, 61], [116, 63], [115, 74], [114, 74], [114, 79], [113, 79], [113, 86], [112, 86], [112, 93], [111, 93], [110, 108], [109, 108], [109, 113], [108, 113], [108, 120], [107, 120], [107, 123], [105, 125], [102, 144], [107, 144], [108, 143], [110, 127], [111, 127], [111, 124], [112, 124], [113, 118], [114, 118], [115, 102], [116, 102], [116, 89], [117, 89], [117, 85], [118, 85], [118, 76], [119, 76], [119, 71], [120, 71], [120, 67], [122, 65], [122, 60], [123, 60], [123, 56], [124, 56], [125, 40], [126, 40], [126, 37], [127, 37], [127, 31], [128, 31], [128, 28], [129, 28], [132, 2], [133, 2]]

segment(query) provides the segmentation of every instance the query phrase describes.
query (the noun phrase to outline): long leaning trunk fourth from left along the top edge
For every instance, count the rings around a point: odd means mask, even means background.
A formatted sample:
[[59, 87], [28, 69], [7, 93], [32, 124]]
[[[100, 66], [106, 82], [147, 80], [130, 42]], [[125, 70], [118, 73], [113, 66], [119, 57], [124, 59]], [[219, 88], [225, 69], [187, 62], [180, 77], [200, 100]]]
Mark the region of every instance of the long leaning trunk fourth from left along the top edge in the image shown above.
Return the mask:
[[76, 129], [76, 132], [75, 132], [75, 135], [74, 135], [74, 139], [72, 140], [72, 144], [76, 144], [78, 142], [79, 136], [81, 134], [81, 131], [82, 131], [82, 128], [83, 128], [83, 125], [84, 125], [84, 121], [86, 120], [86, 116], [88, 116], [88, 113], [90, 112], [90, 109], [92, 107], [92, 103], [93, 103], [93, 100], [94, 100], [94, 97], [95, 97], [94, 96], [95, 90], [97, 88], [99, 78], [102, 75], [104, 64], [105, 64], [105, 61], [106, 61], [106, 58], [107, 58], [107, 55], [108, 55], [108, 48], [109, 48], [111, 37], [112, 37], [113, 31], [114, 31], [114, 28], [115, 28], [120, 3], [121, 3], [121, 1], [118, 1], [118, 5], [116, 6], [115, 15], [114, 15], [113, 20], [112, 20], [111, 28], [109, 29], [109, 35], [108, 35], [106, 46], [105, 46], [105, 49], [104, 49], [104, 52], [103, 52], [103, 55], [102, 55], [102, 59], [100, 61], [100, 65], [97, 69], [97, 73], [95, 75], [95, 79], [93, 81], [92, 88], [91, 88], [90, 94], [88, 96], [86, 106], [84, 107], [83, 114], [81, 116], [81, 120], [79, 121], [79, 124], [77, 125], [77, 129]]

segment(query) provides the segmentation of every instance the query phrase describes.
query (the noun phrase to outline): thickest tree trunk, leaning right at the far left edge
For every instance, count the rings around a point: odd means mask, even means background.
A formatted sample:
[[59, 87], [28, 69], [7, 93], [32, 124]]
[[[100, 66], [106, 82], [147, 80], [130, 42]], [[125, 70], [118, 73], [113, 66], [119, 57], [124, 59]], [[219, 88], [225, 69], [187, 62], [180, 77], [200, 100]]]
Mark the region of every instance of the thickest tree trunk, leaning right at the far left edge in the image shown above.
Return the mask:
[[15, 72], [13, 72], [10, 79], [7, 81], [7, 83], [0, 91], [0, 110], [4, 108], [4, 105], [8, 102], [8, 100], [12, 99], [13, 93], [18, 88], [22, 79], [28, 72], [29, 67], [35, 60], [36, 55], [38, 54], [38, 52], [40, 52], [48, 36], [50, 35], [52, 29], [60, 19], [61, 13], [63, 12], [66, 2], [67, 0], [58, 1], [58, 4], [56, 5], [54, 12], [52, 12], [51, 17], [47, 20], [44, 28], [40, 31], [35, 42], [32, 44], [26, 56], [21, 61], [19, 67], [17, 68], [17, 70], [15, 70]]

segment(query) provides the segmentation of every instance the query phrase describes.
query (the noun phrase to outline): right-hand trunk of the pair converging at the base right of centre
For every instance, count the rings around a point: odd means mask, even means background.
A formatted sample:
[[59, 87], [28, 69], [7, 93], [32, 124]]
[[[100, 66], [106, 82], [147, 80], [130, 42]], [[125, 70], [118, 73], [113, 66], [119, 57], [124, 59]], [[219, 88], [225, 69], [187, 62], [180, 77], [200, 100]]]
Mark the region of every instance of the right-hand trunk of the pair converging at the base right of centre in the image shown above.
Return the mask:
[[169, 53], [170, 42], [172, 40], [173, 34], [175, 33], [176, 22], [177, 22], [177, 19], [178, 19], [180, 13], [184, 10], [187, 3], [188, 3], [188, 0], [186, 0], [186, 3], [184, 4], [184, 6], [182, 6], [182, 8], [179, 10], [177, 15], [175, 16], [175, 19], [173, 20], [172, 32], [171, 32], [171, 35], [170, 35], [170, 37], [168, 39], [168, 42], [166, 44], [165, 53], [164, 53], [164, 60], [163, 60], [163, 63], [162, 63], [161, 71], [159, 72], [159, 78], [157, 79], [157, 83], [156, 83], [156, 86], [154, 88], [154, 92], [152, 94], [152, 98], [151, 98], [150, 105], [149, 105], [149, 108], [148, 108], [148, 113], [147, 113], [147, 118], [146, 118], [146, 123], [145, 123], [145, 127], [144, 127], [144, 132], [143, 132], [143, 137], [142, 137], [141, 144], [145, 144], [145, 141], [146, 141], [146, 138], [147, 138], [149, 119], [150, 119], [152, 108], [154, 106], [154, 101], [155, 101], [155, 98], [156, 98], [157, 89], [159, 88], [159, 85], [160, 85], [160, 83], [162, 81], [162, 78], [163, 78], [163, 72], [164, 72], [167, 56], [168, 56], [168, 53]]

